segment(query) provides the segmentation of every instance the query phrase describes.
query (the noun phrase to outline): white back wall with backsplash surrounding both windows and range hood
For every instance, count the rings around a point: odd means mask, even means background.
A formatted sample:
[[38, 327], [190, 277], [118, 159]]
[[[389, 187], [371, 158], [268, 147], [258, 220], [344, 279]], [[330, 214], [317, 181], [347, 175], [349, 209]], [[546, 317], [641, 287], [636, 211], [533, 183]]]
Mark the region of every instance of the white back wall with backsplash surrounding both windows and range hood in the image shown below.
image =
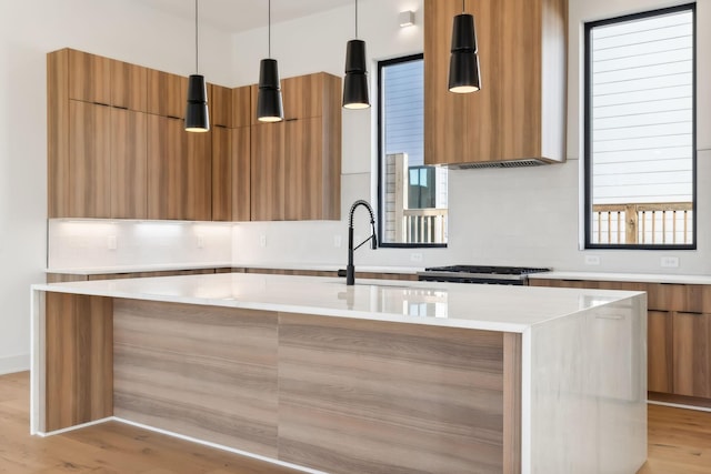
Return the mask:
[[[445, 263], [483, 263], [552, 266], [558, 270], [711, 273], [711, 2], [698, 2], [698, 235], [697, 251], [581, 251], [581, 147], [579, 114], [582, 111], [581, 50], [585, 21], [679, 4], [657, 0], [570, 0], [568, 162], [524, 169], [450, 171], [450, 244], [441, 250], [362, 249], [356, 264], [422, 266]], [[372, 60], [422, 50], [421, 2], [364, 1], [360, 16], [361, 39]], [[409, 6], [409, 8], [408, 8]], [[418, 27], [401, 30], [400, 10], [418, 10]], [[473, 12], [475, 14], [475, 11]], [[272, 28], [272, 56], [279, 60], [281, 75], [326, 70], [342, 74], [346, 41], [352, 34], [352, 9], [278, 24]], [[306, 32], [309, 32], [307, 34]], [[254, 48], [266, 41], [266, 31], [236, 38], [236, 77], [239, 83], [257, 81], [259, 59], [266, 54]], [[243, 61], [247, 59], [244, 67]], [[485, 68], [485, 64], [482, 64]], [[375, 71], [371, 68], [371, 80]], [[371, 83], [371, 88], [372, 88]], [[360, 198], [374, 201], [375, 150], [371, 124], [375, 111], [343, 112], [343, 177], [341, 222], [237, 224], [236, 264], [258, 263], [346, 263], [347, 211]], [[360, 214], [360, 210], [358, 211]], [[367, 219], [358, 215], [357, 233], [367, 235]], [[267, 246], [260, 246], [260, 236]], [[343, 246], [334, 246], [340, 235]], [[412, 254], [421, 254], [414, 262]], [[600, 256], [600, 265], [587, 266], [584, 255]], [[680, 259], [678, 269], [662, 269], [662, 255]], [[417, 258], [417, 255], [415, 255]]]

